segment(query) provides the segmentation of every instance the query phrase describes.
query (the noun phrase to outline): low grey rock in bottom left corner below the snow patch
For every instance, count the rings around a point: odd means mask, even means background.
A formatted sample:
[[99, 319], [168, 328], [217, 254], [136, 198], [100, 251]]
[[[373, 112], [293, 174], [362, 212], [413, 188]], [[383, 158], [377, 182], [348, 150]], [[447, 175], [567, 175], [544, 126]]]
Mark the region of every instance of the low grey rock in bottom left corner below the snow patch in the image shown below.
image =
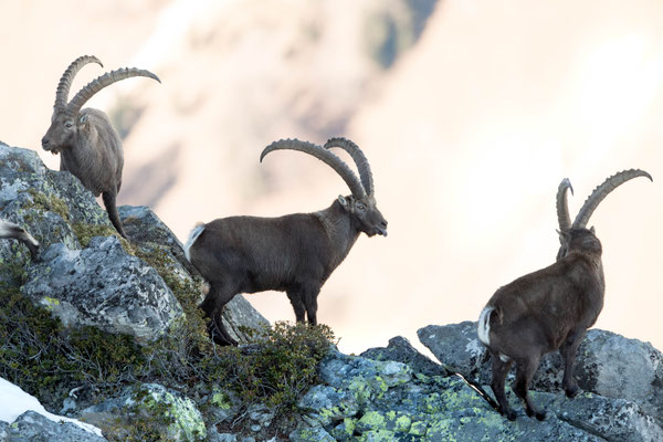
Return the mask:
[[0, 438], [12, 442], [102, 442], [106, 439], [83, 430], [71, 422], [54, 422], [34, 411], [25, 411], [17, 420], [0, 428]]

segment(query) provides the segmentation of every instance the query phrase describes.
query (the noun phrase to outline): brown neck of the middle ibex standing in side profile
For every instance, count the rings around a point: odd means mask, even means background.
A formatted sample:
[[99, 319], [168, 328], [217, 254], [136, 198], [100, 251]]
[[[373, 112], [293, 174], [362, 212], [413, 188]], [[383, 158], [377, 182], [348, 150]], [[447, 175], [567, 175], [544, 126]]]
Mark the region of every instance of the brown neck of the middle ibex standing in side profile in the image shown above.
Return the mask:
[[314, 213], [327, 234], [332, 253], [330, 269], [334, 270], [345, 260], [359, 236], [359, 230], [352, 222], [351, 215], [338, 201], [325, 210]]

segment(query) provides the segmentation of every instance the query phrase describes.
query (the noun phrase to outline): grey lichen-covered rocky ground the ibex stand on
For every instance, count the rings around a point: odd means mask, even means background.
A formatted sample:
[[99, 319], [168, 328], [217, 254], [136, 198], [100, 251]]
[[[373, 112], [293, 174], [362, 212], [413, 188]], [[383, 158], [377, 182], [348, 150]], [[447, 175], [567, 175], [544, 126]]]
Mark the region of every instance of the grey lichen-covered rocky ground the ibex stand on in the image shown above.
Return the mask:
[[[38, 397], [49, 411], [97, 425], [106, 440], [133, 434], [127, 417], [134, 418], [134, 427], [146, 425], [144, 440], [663, 440], [663, 355], [649, 344], [598, 329], [588, 333], [578, 351], [576, 372], [583, 392], [577, 398], [567, 399], [559, 387], [559, 357], [543, 361], [533, 394], [548, 411], [544, 422], [527, 418], [513, 393], [519, 412], [514, 422], [485, 400], [480, 390], [490, 390], [482, 388], [490, 383], [490, 368], [470, 322], [419, 330], [441, 364], [401, 337], [360, 356], [333, 347], [317, 366], [315, 385], [287, 411], [249, 401], [214, 379], [198, 379], [198, 371], [175, 372], [178, 358], [202, 358], [194, 340], [168, 340], [193, 322], [191, 306], [200, 301], [202, 282], [170, 230], [148, 208], [123, 207], [130, 242], [118, 239], [77, 179], [46, 169], [30, 150], [0, 144], [0, 218], [23, 225], [42, 244], [40, 260], [31, 262], [22, 244], [0, 242], [6, 303], [0, 309], [0, 376]], [[265, 324], [241, 296], [224, 319], [241, 343], [251, 340], [250, 329]], [[53, 327], [48, 333], [40, 328], [46, 325]], [[19, 333], [33, 340], [19, 346]], [[48, 340], [54, 333], [69, 344]], [[164, 343], [173, 341], [185, 348], [164, 351]], [[62, 346], [62, 360], [44, 358], [49, 349], [43, 343]], [[85, 358], [74, 351], [81, 348]], [[166, 360], [173, 372], [159, 372], [154, 366], [168, 371], [167, 365], [145, 355], [171, 357]], [[114, 365], [98, 362], [96, 377], [59, 371], [90, 368], [92, 361], [106, 360], [102, 356]], [[34, 360], [40, 365], [31, 365]], [[233, 368], [215, 369], [223, 373]], [[0, 422], [0, 441], [35, 438], [101, 440], [31, 411]]]

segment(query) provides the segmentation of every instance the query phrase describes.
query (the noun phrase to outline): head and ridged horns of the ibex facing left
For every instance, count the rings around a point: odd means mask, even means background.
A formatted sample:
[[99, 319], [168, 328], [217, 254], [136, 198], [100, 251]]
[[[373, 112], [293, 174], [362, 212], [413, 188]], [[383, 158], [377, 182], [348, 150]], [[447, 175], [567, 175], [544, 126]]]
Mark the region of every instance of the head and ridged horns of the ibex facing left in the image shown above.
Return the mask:
[[62, 78], [60, 78], [60, 83], [57, 84], [57, 91], [55, 92], [51, 126], [46, 130], [46, 135], [42, 138], [44, 150], [59, 154], [62, 149], [72, 145], [75, 134], [78, 130], [85, 129], [88, 124], [88, 115], [81, 113], [81, 108], [94, 94], [104, 87], [133, 76], [147, 76], [160, 83], [160, 80], [149, 71], [136, 67], [119, 69], [93, 80], [67, 103], [74, 76], [88, 63], [97, 63], [99, 66], [103, 66], [96, 56], [83, 55], [70, 64], [64, 74], [62, 74]]

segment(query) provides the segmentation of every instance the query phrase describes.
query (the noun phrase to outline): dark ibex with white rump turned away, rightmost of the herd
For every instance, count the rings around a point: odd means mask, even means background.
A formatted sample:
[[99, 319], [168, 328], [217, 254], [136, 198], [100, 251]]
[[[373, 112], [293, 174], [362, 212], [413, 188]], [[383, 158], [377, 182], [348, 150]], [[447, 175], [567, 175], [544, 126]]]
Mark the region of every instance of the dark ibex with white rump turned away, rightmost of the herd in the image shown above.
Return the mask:
[[491, 387], [499, 411], [509, 420], [516, 413], [506, 400], [504, 381], [513, 362], [516, 364], [513, 390], [524, 401], [527, 415], [539, 420], [546, 417], [545, 411], [532, 403], [527, 390], [540, 357], [547, 352], [559, 349], [565, 362], [562, 387], [569, 398], [577, 394], [576, 351], [603, 308], [606, 293], [601, 242], [593, 228], [587, 230], [586, 225], [608, 193], [636, 176], [651, 179], [641, 170], [627, 170], [608, 178], [587, 199], [572, 224], [564, 196], [570, 182], [562, 181], [557, 208], [564, 250], [558, 253], [557, 262], [498, 288], [482, 311], [478, 339], [491, 355]]

